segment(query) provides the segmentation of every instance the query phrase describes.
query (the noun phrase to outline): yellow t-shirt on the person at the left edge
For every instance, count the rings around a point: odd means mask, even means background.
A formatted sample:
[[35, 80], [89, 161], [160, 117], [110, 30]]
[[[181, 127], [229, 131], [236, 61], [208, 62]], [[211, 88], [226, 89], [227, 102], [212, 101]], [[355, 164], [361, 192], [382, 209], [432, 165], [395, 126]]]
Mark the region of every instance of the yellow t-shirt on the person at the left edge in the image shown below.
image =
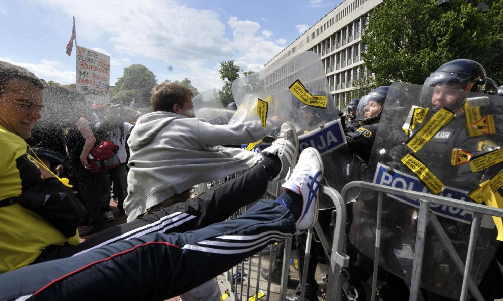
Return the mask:
[[[26, 155], [24, 140], [0, 125], [0, 200], [21, 195], [22, 187], [41, 178], [38, 166]], [[33, 262], [48, 245], [79, 243], [54, 228], [37, 213], [19, 204], [0, 207], [0, 273]]]

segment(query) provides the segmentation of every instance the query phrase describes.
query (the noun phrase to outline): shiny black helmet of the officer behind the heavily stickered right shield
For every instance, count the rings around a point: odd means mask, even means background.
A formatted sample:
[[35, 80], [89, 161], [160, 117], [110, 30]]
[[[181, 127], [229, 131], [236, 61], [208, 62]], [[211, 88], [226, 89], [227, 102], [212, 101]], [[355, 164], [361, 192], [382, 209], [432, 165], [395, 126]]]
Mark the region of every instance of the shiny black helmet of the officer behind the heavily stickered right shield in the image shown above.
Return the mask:
[[424, 86], [438, 87], [466, 92], [481, 92], [486, 83], [486, 71], [476, 61], [470, 59], [455, 59], [441, 65], [430, 74]]

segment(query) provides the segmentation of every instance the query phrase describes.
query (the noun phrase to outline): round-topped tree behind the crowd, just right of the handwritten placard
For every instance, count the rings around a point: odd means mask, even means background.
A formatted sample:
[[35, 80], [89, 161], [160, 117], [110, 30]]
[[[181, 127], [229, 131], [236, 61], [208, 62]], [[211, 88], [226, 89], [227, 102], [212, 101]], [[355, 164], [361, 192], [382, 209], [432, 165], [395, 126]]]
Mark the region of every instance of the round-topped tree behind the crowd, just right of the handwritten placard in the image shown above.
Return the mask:
[[148, 107], [152, 88], [156, 84], [156, 76], [146, 66], [130, 65], [124, 68], [124, 75], [115, 83], [116, 87], [111, 89], [111, 102], [129, 105], [135, 99], [137, 106]]

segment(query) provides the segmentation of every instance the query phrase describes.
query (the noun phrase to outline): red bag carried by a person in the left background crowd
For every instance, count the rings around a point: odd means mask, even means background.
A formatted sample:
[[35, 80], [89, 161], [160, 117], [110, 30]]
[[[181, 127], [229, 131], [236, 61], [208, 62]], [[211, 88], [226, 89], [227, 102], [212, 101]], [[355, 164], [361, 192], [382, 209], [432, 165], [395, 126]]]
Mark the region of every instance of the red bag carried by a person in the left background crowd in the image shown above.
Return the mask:
[[118, 150], [119, 146], [108, 140], [93, 147], [88, 155], [88, 162], [92, 167], [90, 172], [97, 174], [121, 165], [117, 156]]

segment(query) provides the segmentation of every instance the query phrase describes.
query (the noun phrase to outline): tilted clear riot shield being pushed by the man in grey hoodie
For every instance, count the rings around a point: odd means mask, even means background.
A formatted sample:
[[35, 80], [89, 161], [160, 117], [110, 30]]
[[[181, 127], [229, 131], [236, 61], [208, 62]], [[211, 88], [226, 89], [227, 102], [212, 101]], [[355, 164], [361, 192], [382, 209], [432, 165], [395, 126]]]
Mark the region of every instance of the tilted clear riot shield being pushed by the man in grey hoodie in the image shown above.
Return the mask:
[[[238, 110], [230, 123], [260, 120], [267, 135], [275, 137], [281, 124], [290, 121], [299, 135], [299, 153], [314, 147], [322, 155], [323, 184], [340, 190], [349, 182], [345, 171], [351, 156], [323, 63], [316, 53], [306, 51], [239, 78], [232, 83], [232, 94]], [[259, 142], [259, 149], [264, 146]]]

